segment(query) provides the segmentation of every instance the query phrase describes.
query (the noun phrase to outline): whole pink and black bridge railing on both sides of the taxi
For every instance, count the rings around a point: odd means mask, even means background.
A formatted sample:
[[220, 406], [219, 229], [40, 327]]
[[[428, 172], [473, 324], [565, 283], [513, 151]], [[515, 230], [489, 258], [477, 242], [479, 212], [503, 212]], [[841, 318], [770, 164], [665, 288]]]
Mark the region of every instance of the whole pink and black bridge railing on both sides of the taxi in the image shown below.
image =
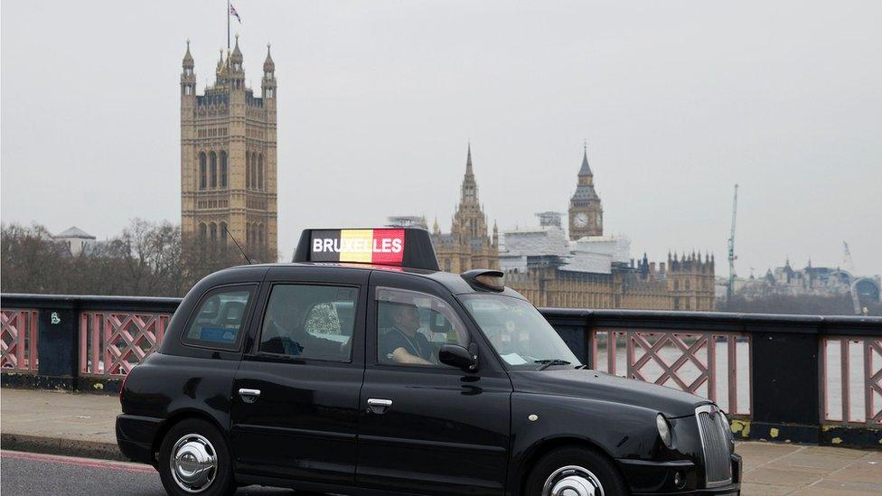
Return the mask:
[[[2, 295], [3, 384], [115, 391], [180, 301]], [[590, 368], [710, 398], [743, 438], [882, 445], [882, 318], [540, 311]]]

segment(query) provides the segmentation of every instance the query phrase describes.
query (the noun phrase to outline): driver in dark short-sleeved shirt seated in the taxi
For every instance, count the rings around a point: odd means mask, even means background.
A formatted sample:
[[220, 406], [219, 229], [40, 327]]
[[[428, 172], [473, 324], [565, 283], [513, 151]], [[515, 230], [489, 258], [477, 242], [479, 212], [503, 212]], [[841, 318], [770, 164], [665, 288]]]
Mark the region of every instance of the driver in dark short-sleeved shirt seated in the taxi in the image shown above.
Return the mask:
[[432, 365], [434, 347], [417, 332], [419, 312], [414, 304], [385, 303], [392, 327], [380, 338], [380, 357], [396, 363]]

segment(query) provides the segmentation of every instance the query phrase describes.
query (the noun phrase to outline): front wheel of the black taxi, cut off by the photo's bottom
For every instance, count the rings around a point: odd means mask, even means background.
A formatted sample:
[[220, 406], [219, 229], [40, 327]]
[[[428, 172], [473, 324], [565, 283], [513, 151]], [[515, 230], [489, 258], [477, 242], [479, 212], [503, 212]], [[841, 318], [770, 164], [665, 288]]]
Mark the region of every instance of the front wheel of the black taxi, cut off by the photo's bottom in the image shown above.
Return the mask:
[[[554, 496], [554, 489], [581, 488], [578, 494], [626, 496], [630, 493], [613, 462], [595, 450], [558, 448], [533, 465], [524, 496]], [[599, 491], [598, 491], [599, 490]]]

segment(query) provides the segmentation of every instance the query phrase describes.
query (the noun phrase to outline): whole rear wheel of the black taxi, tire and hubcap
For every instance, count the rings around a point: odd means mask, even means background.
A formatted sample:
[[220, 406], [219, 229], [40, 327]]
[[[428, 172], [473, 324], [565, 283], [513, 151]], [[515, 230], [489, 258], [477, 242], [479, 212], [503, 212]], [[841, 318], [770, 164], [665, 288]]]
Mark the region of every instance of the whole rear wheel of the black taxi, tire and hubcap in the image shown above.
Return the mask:
[[[178, 470], [173, 468], [175, 454], [183, 461], [175, 465]], [[201, 419], [182, 420], [169, 429], [157, 469], [165, 491], [173, 496], [228, 496], [236, 491], [227, 442]]]

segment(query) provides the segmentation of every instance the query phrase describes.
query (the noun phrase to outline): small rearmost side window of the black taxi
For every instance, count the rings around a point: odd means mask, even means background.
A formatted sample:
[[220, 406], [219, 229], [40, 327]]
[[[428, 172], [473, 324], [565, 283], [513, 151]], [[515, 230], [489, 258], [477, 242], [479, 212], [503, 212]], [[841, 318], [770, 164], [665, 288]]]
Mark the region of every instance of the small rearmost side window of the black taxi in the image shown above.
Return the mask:
[[202, 298], [183, 342], [220, 350], [238, 349], [252, 292], [249, 286], [211, 291]]

